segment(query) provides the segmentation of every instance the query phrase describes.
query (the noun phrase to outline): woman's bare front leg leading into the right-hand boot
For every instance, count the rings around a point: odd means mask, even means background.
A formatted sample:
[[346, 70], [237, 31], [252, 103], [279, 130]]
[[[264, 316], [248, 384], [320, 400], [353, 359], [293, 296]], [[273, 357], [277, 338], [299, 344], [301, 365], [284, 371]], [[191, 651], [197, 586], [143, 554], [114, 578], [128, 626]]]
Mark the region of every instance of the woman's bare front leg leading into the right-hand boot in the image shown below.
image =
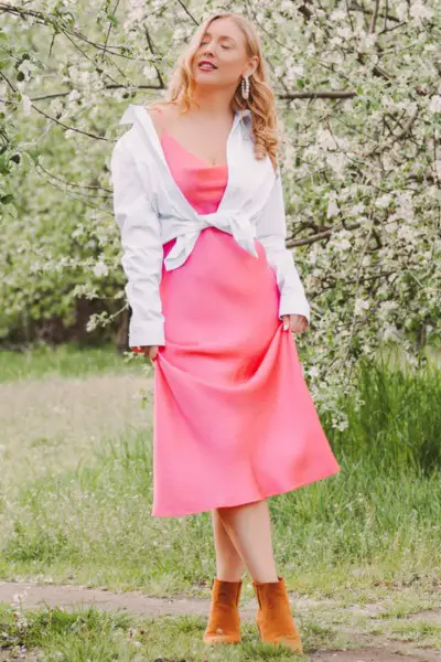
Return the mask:
[[232, 540], [232, 548], [234, 545], [236, 554], [244, 559], [252, 580], [278, 581], [268, 501], [217, 510]]

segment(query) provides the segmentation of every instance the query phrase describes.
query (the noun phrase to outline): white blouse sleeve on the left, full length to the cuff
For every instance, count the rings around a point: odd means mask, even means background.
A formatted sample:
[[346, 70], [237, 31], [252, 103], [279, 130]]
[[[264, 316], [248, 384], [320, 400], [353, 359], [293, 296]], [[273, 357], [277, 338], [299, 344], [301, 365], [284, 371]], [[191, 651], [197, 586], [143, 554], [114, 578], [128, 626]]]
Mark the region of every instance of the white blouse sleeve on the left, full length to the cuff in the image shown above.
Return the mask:
[[[122, 136], [123, 138], [123, 136]], [[132, 309], [129, 346], [165, 345], [160, 297], [163, 247], [160, 222], [130, 150], [119, 139], [110, 160], [115, 220], [120, 229], [125, 287]]]

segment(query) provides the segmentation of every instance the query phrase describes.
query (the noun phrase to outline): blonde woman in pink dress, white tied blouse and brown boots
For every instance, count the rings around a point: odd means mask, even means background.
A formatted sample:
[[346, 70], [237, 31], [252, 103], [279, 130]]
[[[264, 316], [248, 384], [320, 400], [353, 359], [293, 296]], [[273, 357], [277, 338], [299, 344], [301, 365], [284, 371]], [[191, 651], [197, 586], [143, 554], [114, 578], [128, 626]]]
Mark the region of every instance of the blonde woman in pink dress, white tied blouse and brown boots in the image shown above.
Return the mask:
[[262, 641], [301, 651], [267, 499], [340, 471], [290, 331], [310, 307], [287, 225], [271, 89], [254, 25], [212, 15], [164, 103], [131, 105], [111, 159], [129, 346], [154, 365], [155, 516], [211, 510], [204, 642], [240, 641], [245, 567]]

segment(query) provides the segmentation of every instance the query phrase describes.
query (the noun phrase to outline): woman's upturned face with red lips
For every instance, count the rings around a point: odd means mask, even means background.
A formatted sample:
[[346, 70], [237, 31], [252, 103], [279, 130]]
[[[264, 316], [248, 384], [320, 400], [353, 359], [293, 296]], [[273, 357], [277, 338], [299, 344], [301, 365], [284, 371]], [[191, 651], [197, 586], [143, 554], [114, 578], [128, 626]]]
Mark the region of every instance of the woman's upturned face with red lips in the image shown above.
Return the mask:
[[[203, 62], [211, 63], [205, 65]], [[245, 36], [228, 18], [216, 19], [208, 25], [193, 57], [193, 75], [197, 85], [233, 86], [241, 76], [249, 76], [258, 57], [247, 57]]]

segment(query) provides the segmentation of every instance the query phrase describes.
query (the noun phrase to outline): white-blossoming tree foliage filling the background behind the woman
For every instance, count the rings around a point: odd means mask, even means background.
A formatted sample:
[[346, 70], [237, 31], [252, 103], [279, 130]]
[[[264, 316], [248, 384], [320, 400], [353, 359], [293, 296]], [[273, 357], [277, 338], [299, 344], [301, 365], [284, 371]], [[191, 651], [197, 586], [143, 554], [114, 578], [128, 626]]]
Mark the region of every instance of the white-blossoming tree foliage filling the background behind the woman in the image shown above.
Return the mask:
[[[247, 0], [282, 128], [288, 246], [312, 307], [297, 337], [315, 398], [359, 356], [440, 340], [441, 10], [437, 0]], [[109, 159], [128, 103], [162, 96], [223, 3], [0, 0], [3, 337], [80, 298], [127, 309]]]

